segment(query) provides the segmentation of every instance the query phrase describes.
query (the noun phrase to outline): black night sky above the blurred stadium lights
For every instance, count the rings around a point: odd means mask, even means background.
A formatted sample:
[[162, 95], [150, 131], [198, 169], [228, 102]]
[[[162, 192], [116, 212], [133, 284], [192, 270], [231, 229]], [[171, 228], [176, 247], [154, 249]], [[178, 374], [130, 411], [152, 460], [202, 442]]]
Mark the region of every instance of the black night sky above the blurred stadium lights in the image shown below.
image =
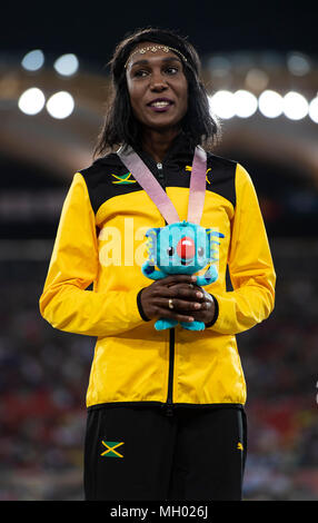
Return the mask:
[[[158, 26], [188, 36], [200, 55], [237, 49], [317, 52], [314, 1], [21, 2], [4, 4], [1, 49], [44, 47], [103, 65], [126, 32]], [[4, 23], [4, 19], [7, 20]]]

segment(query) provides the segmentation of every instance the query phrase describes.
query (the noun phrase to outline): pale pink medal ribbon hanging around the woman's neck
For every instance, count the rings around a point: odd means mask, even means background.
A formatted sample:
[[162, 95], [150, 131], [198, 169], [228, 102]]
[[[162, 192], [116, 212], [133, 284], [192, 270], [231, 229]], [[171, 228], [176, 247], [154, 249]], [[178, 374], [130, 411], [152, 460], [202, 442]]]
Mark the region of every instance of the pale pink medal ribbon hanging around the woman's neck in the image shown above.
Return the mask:
[[[180, 221], [176, 207], [159, 181], [132, 148], [117, 151], [122, 164], [158, 207], [167, 224]], [[190, 179], [188, 221], [200, 225], [206, 196], [207, 152], [197, 146]]]

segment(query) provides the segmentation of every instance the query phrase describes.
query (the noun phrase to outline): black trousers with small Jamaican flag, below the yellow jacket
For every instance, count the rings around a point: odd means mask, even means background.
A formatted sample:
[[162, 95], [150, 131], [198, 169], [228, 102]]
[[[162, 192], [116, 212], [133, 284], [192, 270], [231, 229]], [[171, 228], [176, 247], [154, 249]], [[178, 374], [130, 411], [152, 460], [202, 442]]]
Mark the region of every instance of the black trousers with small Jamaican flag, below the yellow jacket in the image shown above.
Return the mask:
[[246, 415], [238, 407], [113, 406], [88, 412], [87, 501], [240, 501]]

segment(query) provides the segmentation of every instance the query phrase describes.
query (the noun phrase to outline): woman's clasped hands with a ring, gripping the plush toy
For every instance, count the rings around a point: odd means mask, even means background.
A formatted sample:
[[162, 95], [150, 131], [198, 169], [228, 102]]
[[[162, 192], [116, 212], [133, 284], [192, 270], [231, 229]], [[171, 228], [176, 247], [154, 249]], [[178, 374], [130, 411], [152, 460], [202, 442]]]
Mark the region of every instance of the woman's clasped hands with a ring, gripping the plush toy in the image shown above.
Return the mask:
[[[196, 276], [172, 275], [146, 287], [140, 296], [146, 316], [149, 319], [210, 322], [215, 315], [215, 303], [206, 290], [196, 286]], [[169, 300], [173, 308], [169, 307]]]

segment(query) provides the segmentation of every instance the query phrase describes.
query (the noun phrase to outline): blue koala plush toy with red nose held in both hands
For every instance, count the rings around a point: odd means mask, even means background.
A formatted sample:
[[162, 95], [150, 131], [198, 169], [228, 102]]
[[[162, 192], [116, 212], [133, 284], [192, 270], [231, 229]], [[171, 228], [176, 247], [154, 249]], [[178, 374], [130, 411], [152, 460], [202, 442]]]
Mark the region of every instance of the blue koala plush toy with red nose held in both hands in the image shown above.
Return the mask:
[[[142, 274], [150, 279], [161, 279], [171, 274], [192, 275], [205, 267], [202, 276], [197, 277], [199, 286], [209, 285], [218, 278], [217, 262], [221, 233], [213, 231], [190, 221], [178, 221], [166, 227], [147, 230], [148, 259], [142, 265]], [[157, 267], [157, 268], [156, 268]], [[155, 323], [157, 330], [171, 328], [178, 324], [175, 319], [160, 318]], [[189, 330], [203, 330], [202, 322], [181, 322], [180, 325]]]

